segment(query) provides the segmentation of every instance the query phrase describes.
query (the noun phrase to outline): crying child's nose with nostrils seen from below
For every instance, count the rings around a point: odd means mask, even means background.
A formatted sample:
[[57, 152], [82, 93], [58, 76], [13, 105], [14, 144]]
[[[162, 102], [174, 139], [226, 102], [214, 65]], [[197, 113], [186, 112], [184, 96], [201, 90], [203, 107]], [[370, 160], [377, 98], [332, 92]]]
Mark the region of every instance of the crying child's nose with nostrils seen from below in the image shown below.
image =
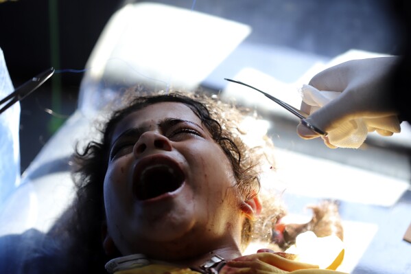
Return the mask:
[[171, 151], [172, 144], [167, 137], [155, 131], [146, 131], [143, 133], [139, 141], [134, 145], [133, 152], [135, 156], [139, 156], [145, 151], [150, 150], [165, 150]]

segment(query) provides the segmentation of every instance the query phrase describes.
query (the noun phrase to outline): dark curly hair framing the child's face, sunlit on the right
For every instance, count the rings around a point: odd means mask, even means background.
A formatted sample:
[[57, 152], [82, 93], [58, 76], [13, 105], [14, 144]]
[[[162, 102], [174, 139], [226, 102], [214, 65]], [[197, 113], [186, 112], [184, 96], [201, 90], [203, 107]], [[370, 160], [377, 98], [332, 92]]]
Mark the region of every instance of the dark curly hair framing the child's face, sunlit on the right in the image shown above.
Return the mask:
[[[135, 92], [135, 91], [138, 92]], [[139, 89], [124, 95], [122, 107], [115, 110], [100, 131], [100, 141], [91, 141], [84, 150], [76, 148], [73, 155], [73, 179], [77, 187], [75, 201], [56, 223], [53, 231], [64, 231], [66, 252], [71, 269], [77, 273], [104, 272], [110, 258], [102, 247], [102, 224], [105, 221], [103, 181], [108, 168], [110, 139], [113, 130], [128, 114], [160, 102], [178, 102], [188, 106], [209, 130], [231, 162], [237, 186], [244, 199], [259, 191], [259, 157], [248, 148], [238, 127], [248, 111], [223, 103], [204, 93], [156, 93], [141, 95]], [[246, 247], [253, 231], [253, 222], [246, 220], [242, 231], [242, 247]], [[121, 255], [121, 254], [115, 254]]]

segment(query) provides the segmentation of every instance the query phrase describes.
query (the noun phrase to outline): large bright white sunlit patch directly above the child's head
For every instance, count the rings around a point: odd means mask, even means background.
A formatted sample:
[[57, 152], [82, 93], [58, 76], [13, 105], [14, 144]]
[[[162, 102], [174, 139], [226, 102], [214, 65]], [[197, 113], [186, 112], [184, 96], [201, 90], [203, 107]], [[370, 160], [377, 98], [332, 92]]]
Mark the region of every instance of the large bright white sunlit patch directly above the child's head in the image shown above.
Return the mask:
[[91, 53], [79, 107], [86, 114], [95, 111], [113, 100], [112, 93], [137, 83], [165, 91], [196, 89], [250, 31], [248, 25], [172, 5], [125, 5]]

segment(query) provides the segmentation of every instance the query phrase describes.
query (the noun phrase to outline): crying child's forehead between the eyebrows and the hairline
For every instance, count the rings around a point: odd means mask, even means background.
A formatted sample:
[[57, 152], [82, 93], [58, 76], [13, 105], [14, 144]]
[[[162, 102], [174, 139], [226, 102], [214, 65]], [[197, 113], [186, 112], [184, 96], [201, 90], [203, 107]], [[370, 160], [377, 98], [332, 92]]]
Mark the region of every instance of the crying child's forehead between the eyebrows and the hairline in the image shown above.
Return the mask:
[[153, 127], [165, 118], [177, 118], [201, 126], [200, 118], [191, 109], [179, 102], [160, 102], [134, 111], [121, 119], [113, 132], [113, 140], [130, 128]]

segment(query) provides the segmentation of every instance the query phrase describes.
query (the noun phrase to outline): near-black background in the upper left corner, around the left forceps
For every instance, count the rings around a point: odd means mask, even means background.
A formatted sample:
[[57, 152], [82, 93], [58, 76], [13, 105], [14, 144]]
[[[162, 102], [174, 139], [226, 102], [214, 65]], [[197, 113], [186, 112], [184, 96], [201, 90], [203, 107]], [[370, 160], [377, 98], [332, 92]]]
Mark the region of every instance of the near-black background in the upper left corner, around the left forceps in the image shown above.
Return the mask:
[[[19, 0], [0, 4], [0, 47], [14, 87], [49, 67], [83, 69], [121, 1]], [[82, 73], [54, 74], [21, 102], [21, 171], [77, 107]], [[47, 113], [47, 109], [55, 113]]]

